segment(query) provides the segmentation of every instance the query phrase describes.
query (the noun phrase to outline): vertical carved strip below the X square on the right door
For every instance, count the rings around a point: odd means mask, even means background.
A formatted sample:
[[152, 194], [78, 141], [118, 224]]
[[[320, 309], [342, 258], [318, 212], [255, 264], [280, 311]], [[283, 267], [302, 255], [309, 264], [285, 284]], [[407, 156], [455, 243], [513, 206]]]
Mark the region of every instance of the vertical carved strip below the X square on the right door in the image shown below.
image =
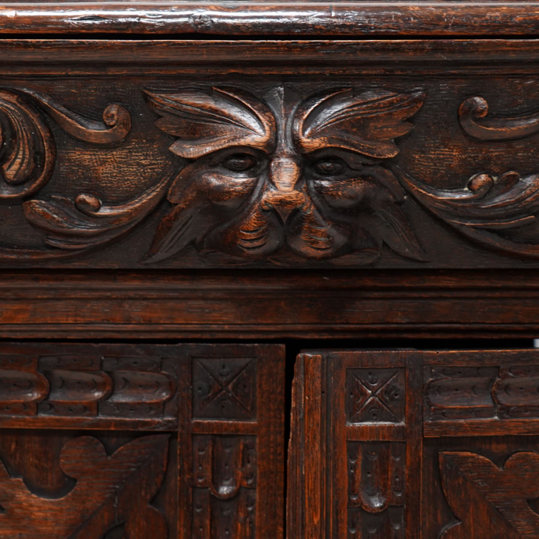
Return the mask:
[[348, 537], [404, 539], [406, 444], [351, 442], [348, 453]]

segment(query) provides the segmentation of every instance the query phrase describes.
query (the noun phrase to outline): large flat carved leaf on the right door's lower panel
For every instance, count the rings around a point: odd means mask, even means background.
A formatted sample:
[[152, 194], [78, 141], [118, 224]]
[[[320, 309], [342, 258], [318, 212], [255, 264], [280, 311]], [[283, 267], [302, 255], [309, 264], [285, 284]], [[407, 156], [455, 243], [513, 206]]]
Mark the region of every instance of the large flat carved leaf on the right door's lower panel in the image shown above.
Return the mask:
[[482, 455], [441, 452], [444, 493], [460, 523], [440, 539], [536, 539], [539, 515], [527, 500], [539, 496], [539, 454], [515, 453], [502, 469]]

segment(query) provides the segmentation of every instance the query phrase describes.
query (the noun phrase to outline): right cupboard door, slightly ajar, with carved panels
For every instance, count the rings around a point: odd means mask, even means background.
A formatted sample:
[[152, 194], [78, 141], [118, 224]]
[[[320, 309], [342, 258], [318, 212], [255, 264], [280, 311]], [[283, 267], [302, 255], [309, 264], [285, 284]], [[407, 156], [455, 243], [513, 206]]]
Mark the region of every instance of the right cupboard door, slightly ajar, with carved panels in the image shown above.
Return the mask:
[[539, 352], [298, 357], [291, 539], [537, 539]]

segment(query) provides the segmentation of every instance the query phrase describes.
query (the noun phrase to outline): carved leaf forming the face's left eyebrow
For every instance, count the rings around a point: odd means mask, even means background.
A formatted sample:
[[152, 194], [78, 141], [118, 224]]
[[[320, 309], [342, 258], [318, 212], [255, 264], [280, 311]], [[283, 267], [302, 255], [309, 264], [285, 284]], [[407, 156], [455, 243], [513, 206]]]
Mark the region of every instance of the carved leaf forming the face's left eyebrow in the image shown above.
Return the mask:
[[230, 146], [273, 147], [273, 114], [251, 94], [239, 89], [212, 88], [211, 92], [145, 92], [151, 108], [163, 116], [156, 125], [179, 137], [170, 150], [196, 159]]

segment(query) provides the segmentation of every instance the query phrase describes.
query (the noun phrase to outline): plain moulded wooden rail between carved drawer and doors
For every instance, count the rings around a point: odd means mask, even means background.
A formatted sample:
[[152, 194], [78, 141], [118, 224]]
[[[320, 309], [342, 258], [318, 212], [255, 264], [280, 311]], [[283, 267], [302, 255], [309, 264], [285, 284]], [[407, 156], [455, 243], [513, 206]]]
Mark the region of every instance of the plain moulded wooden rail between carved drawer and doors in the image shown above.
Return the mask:
[[534, 270], [4, 272], [4, 338], [528, 337]]

